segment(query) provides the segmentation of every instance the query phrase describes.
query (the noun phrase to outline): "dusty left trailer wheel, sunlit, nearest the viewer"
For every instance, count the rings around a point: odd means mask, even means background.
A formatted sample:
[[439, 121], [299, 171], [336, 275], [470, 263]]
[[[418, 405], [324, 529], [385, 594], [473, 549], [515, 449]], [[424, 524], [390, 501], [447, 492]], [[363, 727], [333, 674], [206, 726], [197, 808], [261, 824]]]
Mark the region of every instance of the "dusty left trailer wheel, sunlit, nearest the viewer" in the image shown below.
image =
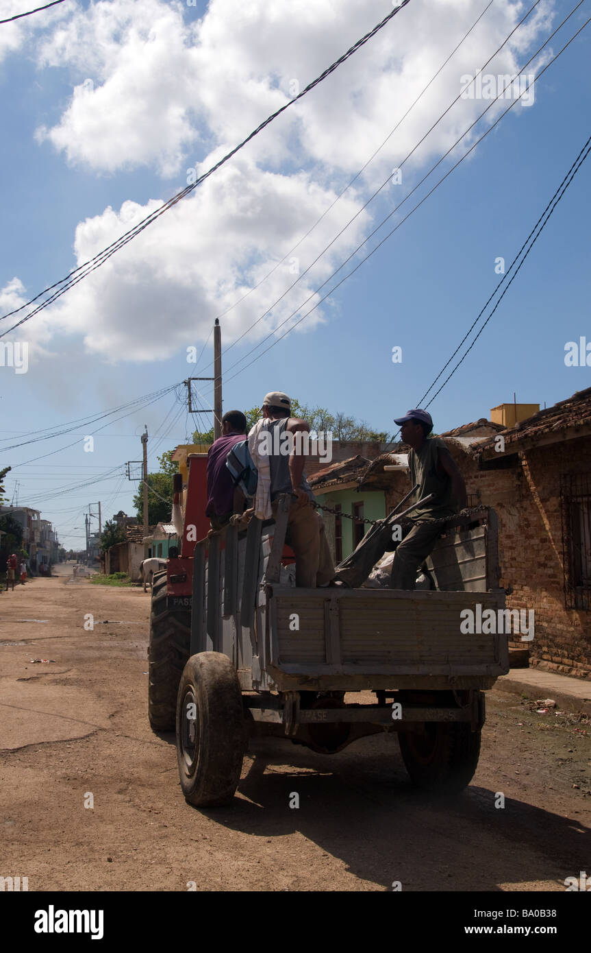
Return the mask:
[[176, 753], [187, 801], [196, 807], [231, 801], [245, 750], [242, 695], [230, 659], [221, 652], [191, 656], [176, 709]]

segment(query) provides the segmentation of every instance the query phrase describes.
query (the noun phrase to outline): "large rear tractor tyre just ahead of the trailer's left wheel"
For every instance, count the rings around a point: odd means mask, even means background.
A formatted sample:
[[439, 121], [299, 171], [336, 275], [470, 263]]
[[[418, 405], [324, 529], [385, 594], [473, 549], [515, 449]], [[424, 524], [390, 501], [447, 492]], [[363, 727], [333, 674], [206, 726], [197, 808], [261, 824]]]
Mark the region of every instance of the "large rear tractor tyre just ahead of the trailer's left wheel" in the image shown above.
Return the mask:
[[167, 573], [154, 575], [148, 648], [148, 718], [152, 731], [174, 731], [179, 681], [188, 659], [190, 613], [167, 609]]

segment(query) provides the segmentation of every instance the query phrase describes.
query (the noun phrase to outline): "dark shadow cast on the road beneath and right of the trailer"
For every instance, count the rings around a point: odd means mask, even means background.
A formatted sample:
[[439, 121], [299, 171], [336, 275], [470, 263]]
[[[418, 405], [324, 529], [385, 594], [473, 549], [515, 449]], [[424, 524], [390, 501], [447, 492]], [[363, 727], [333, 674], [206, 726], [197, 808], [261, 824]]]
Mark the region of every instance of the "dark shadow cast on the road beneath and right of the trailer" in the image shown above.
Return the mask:
[[513, 799], [496, 808], [495, 792], [478, 786], [453, 799], [424, 795], [408, 781], [396, 740], [363, 743], [329, 758], [253, 741], [244, 798], [203, 813], [267, 839], [299, 831], [384, 889], [395, 881], [403, 890], [561, 886], [588, 867], [590, 832], [578, 822]]

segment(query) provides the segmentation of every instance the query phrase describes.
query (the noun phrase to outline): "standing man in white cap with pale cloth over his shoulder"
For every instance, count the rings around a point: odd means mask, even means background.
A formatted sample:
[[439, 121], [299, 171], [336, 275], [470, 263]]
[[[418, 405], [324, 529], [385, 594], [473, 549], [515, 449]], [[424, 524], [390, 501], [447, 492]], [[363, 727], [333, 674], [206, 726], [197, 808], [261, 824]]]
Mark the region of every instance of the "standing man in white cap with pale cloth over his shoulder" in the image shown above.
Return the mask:
[[[304, 473], [304, 441], [302, 437], [298, 439], [296, 436], [309, 433], [310, 428], [305, 420], [290, 416], [291, 401], [282, 391], [266, 394], [261, 410], [265, 427], [258, 431], [258, 436], [266, 435], [266, 439], [265, 449], [261, 449], [259, 454], [268, 456], [269, 497], [273, 516], [277, 514], [277, 497], [285, 493], [296, 497], [291, 503], [286, 535], [286, 542], [295, 553], [296, 585], [310, 589], [328, 585], [334, 578], [334, 565], [326, 541], [324, 521], [311, 505], [314, 494]], [[287, 449], [289, 452], [286, 452]], [[253, 459], [256, 463], [254, 455]]]

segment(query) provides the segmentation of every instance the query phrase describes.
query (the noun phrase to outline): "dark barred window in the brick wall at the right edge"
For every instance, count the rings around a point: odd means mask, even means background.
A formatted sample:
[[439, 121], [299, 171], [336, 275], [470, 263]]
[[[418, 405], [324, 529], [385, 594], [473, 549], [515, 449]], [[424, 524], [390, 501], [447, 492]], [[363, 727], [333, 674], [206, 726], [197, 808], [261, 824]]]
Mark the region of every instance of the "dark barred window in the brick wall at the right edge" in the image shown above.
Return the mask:
[[562, 564], [567, 609], [591, 609], [591, 482], [587, 474], [561, 478]]

